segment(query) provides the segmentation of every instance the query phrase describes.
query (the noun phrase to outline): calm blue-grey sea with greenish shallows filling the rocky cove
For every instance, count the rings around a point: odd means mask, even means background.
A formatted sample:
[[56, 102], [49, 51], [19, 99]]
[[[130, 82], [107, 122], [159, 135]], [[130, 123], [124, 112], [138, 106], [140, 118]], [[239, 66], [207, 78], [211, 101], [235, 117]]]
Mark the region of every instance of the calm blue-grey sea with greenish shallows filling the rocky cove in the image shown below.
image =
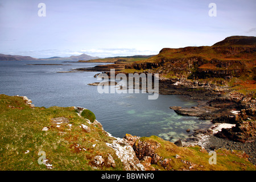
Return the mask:
[[[64, 64], [64, 65], [28, 65]], [[126, 133], [141, 137], [157, 135], [174, 142], [187, 137], [186, 129], [209, 127], [208, 121], [177, 115], [170, 106], [191, 107], [195, 101], [184, 96], [147, 93], [100, 94], [93, 76], [100, 72], [72, 72], [72, 68], [105, 63], [63, 63], [62, 61], [0, 61], [0, 94], [27, 96], [35, 106], [81, 106], [92, 110], [106, 131], [114, 137]]]

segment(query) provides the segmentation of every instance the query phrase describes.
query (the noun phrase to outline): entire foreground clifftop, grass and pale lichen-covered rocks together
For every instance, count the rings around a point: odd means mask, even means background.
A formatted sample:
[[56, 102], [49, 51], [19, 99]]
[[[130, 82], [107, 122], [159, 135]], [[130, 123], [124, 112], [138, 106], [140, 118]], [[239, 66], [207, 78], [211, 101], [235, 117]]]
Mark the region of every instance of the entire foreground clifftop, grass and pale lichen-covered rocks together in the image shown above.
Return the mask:
[[82, 107], [35, 107], [27, 97], [1, 94], [0, 109], [3, 171], [256, 169], [239, 151], [217, 150], [212, 165], [199, 146], [177, 147], [155, 136], [112, 137]]

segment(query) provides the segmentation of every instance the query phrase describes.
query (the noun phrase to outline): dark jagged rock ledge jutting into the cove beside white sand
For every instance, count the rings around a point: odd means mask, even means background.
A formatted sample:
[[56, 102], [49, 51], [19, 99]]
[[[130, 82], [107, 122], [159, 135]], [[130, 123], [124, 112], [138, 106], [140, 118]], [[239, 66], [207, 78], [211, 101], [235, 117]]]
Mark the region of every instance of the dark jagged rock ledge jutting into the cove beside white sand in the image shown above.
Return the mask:
[[200, 119], [209, 119], [213, 123], [232, 123], [231, 129], [222, 129], [216, 137], [236, 142], [250, 142], [256, 138], [255, 99], [241, 93], [229, 93], [226, 96], [202, 102], [193, 107], [171, 106], [177, 114], [191, 115]]

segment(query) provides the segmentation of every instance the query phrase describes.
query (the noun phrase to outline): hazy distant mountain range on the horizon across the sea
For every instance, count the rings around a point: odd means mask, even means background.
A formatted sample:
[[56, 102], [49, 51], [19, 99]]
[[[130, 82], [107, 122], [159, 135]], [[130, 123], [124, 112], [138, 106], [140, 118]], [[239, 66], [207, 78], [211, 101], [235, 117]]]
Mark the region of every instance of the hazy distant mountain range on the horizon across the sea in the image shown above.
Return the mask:
[[85, 53], [79, 55], [79, 56], [70, 56], [70, 57], [49, 57], [49, 58], [40, 58], [37, 59], [35, 57], [31, 56], [19, 56], [19, 55], [4, 55], [0, 53], [0, 61], [34, 61], [34, 60], [47, 60], [47, 61], [79, 61], [79, 60], [93, 60], [93, 59], [99, 59], [100, 57], [93, 57], [86, 55]]

